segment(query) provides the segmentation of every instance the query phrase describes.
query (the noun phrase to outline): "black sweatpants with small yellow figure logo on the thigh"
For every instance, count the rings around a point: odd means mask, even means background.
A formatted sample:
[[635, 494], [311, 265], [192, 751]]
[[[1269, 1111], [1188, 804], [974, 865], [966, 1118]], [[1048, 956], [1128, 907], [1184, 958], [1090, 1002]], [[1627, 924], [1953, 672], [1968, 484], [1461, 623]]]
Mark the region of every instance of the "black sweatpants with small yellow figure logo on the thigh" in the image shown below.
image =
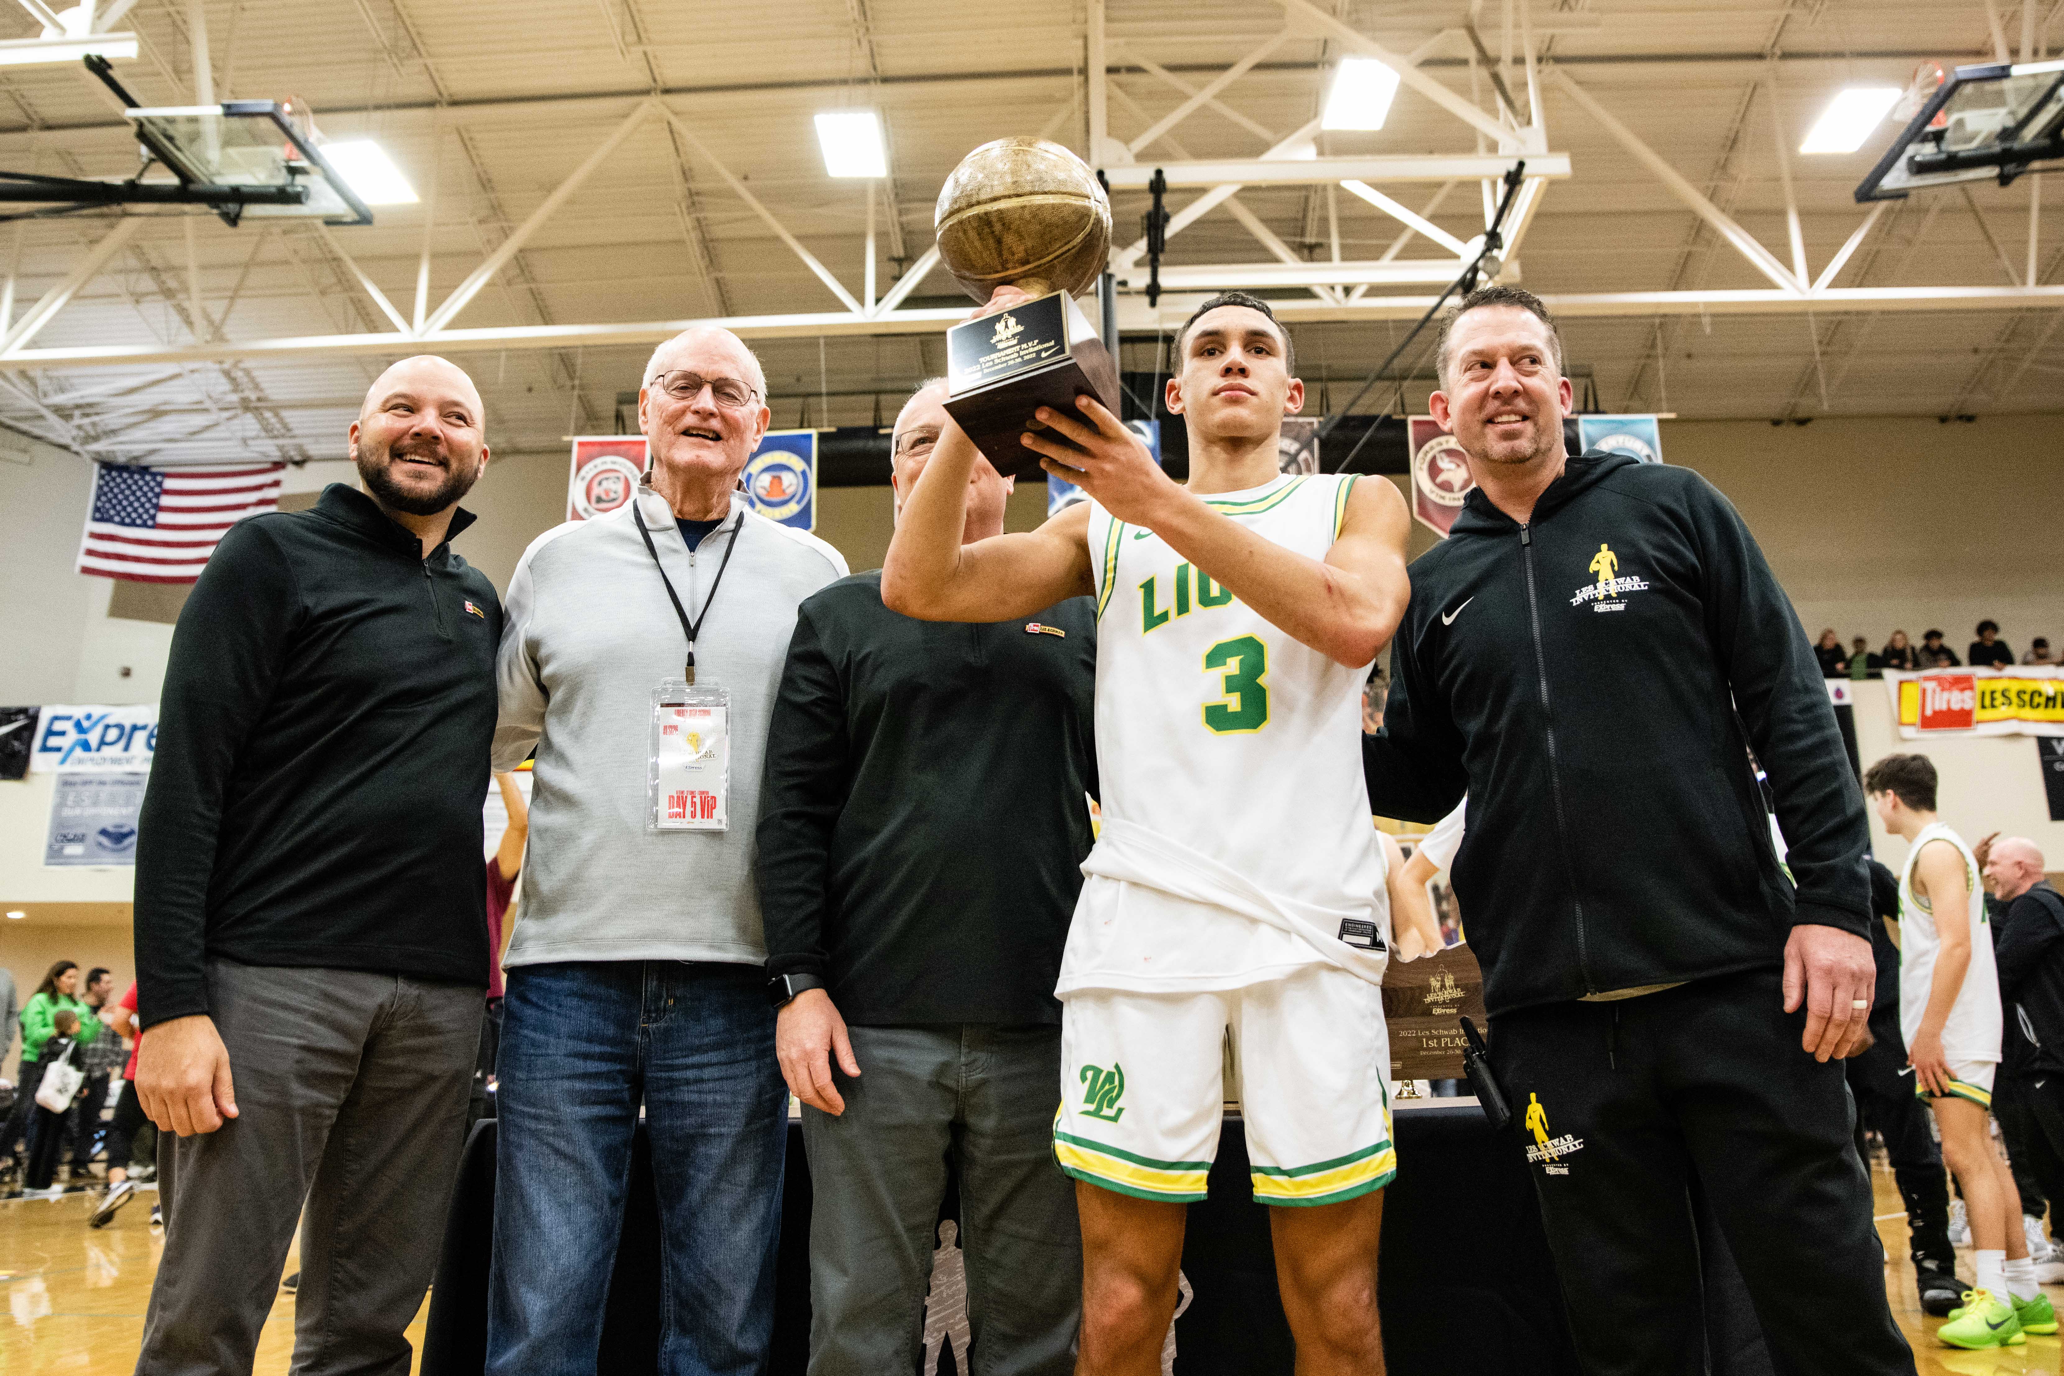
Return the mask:
[[1697, 1376], [1690, 1192], [1740, 1265], [1779, 1372], [1913, 1376], [1884, 1298], [1841, 1062], [1754, 970], [1490, 1021], [1577, 1353], [1593, 1376]]

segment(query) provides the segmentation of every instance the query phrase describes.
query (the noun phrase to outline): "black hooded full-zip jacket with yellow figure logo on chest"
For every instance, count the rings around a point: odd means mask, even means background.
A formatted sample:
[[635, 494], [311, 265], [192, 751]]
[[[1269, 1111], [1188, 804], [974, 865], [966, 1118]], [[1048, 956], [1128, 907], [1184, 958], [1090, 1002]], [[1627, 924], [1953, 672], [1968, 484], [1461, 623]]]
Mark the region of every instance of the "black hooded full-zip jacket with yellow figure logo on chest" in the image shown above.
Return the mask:
[[1368, 798], [1434, 821], [1470, 794], [1455, 895], [1490, 1013], [1779, 965], [1806, 922], [1868, 939], [1864, 794], [1820, 664], [1697, 472], [1585, 454], [1527, 526], [1470, 493], [1391, 644]]

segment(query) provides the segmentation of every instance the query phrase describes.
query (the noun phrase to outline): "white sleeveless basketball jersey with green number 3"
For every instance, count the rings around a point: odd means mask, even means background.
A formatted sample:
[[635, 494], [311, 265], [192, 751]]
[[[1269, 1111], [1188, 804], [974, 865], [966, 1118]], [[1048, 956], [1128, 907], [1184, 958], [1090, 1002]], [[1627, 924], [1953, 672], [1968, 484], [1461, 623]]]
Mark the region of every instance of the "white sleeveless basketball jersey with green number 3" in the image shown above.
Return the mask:
[[[1214, 510], [1325, 559], [1352, 474], [1286, 474]], [[1057, 992], [1226, 990], [1387, 961], [1362, 782], [1362, 683], [1158, 534], [1090, 507], [1104, 825]]]

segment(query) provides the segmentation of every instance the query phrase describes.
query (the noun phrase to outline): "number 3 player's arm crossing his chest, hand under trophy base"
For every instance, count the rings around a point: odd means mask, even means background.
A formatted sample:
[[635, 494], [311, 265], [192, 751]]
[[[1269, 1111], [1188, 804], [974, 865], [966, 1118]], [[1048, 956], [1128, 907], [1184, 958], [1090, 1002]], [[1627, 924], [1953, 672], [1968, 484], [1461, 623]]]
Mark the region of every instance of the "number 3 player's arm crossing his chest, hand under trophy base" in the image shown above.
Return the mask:
[[1406, 615], [1406, 536], [1412, 518], [1389, 483], [1356, 483], [1325, 559], [1284, 549], [1214, 512], [1176, 485], [1139, 437], [1090, 396], [1079, 417], [1049, 408], [1038, 419], [1071, 444], [1032, 433], [1026, 444], [1049, 472], [1082, 483], [1106, 512], [1164, 538], [1197, 571], [1300, 644], [1348, 668], [1375, 662]]

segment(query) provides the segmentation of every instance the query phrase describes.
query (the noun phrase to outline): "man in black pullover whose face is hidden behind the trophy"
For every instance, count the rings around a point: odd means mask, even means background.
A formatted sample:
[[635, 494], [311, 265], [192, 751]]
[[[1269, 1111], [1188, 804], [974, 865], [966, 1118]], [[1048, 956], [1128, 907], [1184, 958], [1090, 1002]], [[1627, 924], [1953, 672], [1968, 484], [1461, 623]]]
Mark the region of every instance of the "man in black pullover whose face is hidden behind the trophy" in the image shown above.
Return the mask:
[[[898, 510], [945, 421], [945, 384], [896, 419]], [[1003, 532], [1009, 491], [974, 464], [964, 543]], [[817, 1376], [918, 1366], [947, 1159], [974, 1370], [1073, 1370], [1082, 1244], [1051, 1155], [1053, 990], [1092, 844], [1094, 685], [1086, 596], [995, 625], [914, 621], [881, 604], [873, 571], [797, 615], [760, 794], [760, 910], [815, 1186]]]

